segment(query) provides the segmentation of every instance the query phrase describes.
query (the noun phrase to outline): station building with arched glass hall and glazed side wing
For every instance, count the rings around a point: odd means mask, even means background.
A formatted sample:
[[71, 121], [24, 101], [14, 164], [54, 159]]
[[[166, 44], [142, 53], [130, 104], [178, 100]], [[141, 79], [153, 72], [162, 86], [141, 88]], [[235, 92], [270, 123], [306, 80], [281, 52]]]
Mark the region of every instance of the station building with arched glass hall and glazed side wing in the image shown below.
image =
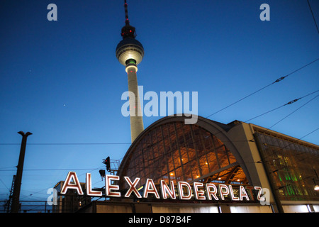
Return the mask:
[[[233, 187], [247, 192], [265, 189], [268, 203], [250, 199], [222, 200], [111, 199], [92, 201], [79, 212], [318, 212], [319, 146], [251, 123], [228, 124], [198, 116], [185, 124], [185, 116], [167, 116], [147, 127], [134, 140], [118, 170], [120, 189], [128, 189], [124, 176], [140, 178], [142, 193], [147, 179], [156, 187], [164, 180]], [[250, 190], [252, 192], [252, 190]], [[177, 192], [178, 193], [178, 192]]]

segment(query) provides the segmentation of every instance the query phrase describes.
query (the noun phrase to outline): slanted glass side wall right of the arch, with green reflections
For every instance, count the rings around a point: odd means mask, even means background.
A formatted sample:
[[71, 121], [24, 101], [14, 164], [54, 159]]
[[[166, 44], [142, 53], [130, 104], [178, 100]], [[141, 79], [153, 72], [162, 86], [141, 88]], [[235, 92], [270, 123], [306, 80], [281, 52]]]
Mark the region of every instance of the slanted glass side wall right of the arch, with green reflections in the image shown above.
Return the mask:
[[257, 131], [257, 143], [269, 169], [269, 177], [282, 200], [319, 200], [313, 188], [319, 172], [319, 150], [284, 136]]

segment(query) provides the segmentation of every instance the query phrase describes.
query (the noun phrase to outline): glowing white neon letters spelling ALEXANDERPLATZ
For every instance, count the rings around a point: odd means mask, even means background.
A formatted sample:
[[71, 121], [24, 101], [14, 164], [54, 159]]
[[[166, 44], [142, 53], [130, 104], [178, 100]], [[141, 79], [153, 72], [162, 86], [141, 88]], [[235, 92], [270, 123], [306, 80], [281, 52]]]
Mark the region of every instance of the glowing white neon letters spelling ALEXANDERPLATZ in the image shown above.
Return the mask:
[[[148, 198], [153, 196], [156, 199], [191, 199], [194, 195], [196, 200], [225, 200], [225, 196], [230, 196], [233, 201], [251, 201], [257, 199], [258, 201], [265, 202], [266, 198], [262, 195], [264, 189], [262, 187], [244, 187], [239, 185], [239, 189], [234, 189], [232, 185], [228, 184], [213, 184], [213, 183], [202, 183], [194, 182], [193, 187], [188, 182], [170, 182], [167, 184], [164, 180], [159, 183], [159, 189], [155, 186], [152, 179], [147, 179], [143, 187], [143, 192], [140, 193], [136, 188], [140, 178], [135, 178], [133, 181], [130, 177], [124, 177], [125, 181], [129, 185], [129, 189], [125, 193], [125, 197], [130, 197], [131, 194], [135, 194], [137, 198]], [[110, 197], [121, 197], [121, 192], [118, 185], [111, 184], [111, 182], [119, 181], [120, 177], [116, 175], [106, 175], [105, 176], [105, 196]], [[175, 191], [177, 187], [177, 193]], [[62, 186], [60, 194], [66, 194], [68, 189], [75, 189], [79, 195], [84, 195], [82, 187], [77, 178], [75, 172], [69, 172], [65, 182]], [[250, 192], [250, 193], [247, 193]], [[101, 191], [94, 191], [91, 185], [91, 174], [86, 173], [86, 196], [102, 196]], [[235, 196], [236, 194], [236, 196]], [[250, 194], [250, 195], [249, 195]], [[257, 198], [254, 198], [256, 194]], [[268, 193], [267, 193], [268, 194]], [[268, 196], [268, 195], [267, 195]], [[267, 198], [268, 201], [268, 198]]]

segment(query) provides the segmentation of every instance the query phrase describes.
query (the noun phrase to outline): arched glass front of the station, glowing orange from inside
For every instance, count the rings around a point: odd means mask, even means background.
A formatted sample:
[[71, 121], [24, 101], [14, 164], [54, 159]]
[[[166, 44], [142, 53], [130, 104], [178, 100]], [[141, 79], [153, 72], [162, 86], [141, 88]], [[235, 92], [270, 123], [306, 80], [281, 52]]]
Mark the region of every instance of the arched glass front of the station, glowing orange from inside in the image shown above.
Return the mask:
[[[119, 175], [165, 182], [215, 182], [247, 185], [235, 155], [218, 136], [183, 121], [169, 121], [147, 128], [128, 150]], [[123, 177], [121, 177], [122, 179]], [[121, 187], [128, 187], [124, 181]]]

